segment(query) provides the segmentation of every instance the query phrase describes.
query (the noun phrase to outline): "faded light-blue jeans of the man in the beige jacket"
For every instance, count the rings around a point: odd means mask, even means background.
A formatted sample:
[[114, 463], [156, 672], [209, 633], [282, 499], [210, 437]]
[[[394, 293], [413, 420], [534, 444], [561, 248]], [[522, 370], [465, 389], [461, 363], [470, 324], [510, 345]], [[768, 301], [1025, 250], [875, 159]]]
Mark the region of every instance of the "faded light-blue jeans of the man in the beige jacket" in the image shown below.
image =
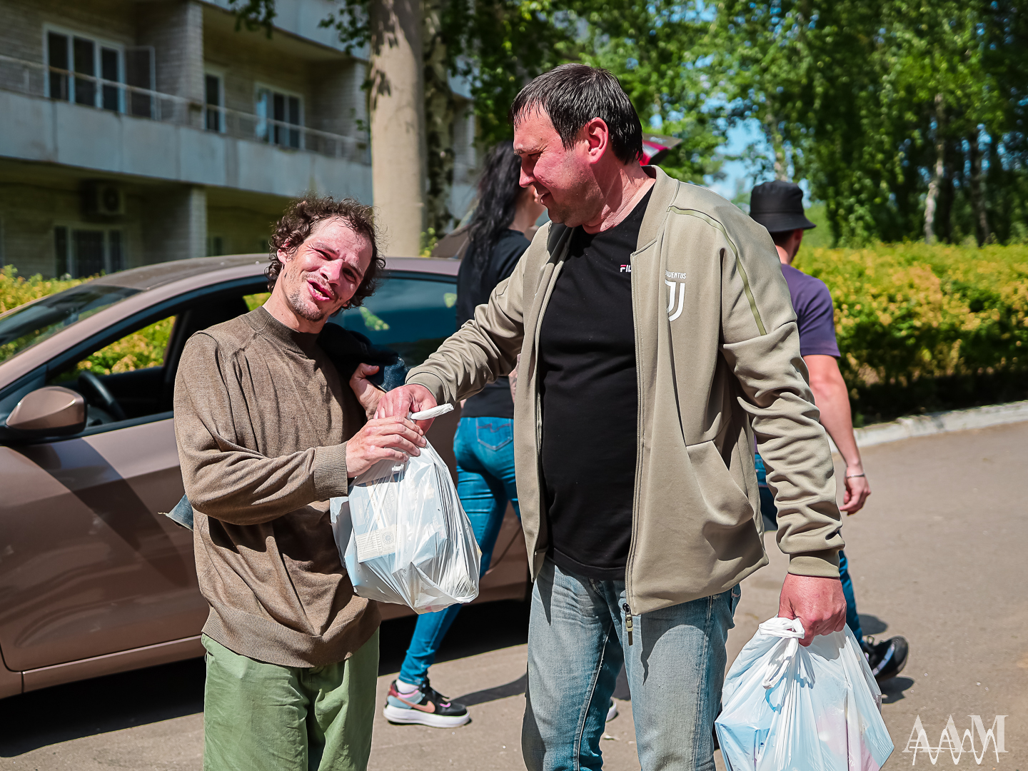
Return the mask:
[[713, 769], [725, 641], [739, 587], [632, 618], [624, 581], [597, 581], [547, 558], [531, 592], [521, 752], [528, 771], [602, 768], [599, 748], [624, 664], [642, 771]]

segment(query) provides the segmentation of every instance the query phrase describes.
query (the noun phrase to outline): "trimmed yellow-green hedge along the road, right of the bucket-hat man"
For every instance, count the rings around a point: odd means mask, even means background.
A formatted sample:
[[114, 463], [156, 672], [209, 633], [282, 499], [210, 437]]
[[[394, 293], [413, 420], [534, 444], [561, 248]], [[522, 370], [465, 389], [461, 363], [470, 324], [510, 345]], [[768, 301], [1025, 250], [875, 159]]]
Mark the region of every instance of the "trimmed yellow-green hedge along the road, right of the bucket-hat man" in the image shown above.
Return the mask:
[[855, 411], [894, 416], [988, 402], [983, 387], [998, 380], [1024, 390], [1028, 247], [805, 246], [795, 265], [832, 290]]

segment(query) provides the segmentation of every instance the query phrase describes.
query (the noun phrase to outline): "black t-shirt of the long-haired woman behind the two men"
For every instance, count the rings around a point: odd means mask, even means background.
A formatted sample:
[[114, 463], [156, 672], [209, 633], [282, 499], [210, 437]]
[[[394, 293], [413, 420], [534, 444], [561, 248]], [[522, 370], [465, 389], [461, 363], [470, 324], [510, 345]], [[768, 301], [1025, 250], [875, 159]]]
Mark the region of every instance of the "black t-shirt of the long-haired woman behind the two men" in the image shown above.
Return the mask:
[[[514, 271], [514, 266], [531, 244], [520, 230], [506, 229], [487, 260], [479, 261], [474, 245], [469, 245], [456, 274], [456, 326], [475, 315], [475, 307], [489, 301], [497, 284]], [[465, 402], [462, 417], [514, 417], [510, 379], [498, 377]]]

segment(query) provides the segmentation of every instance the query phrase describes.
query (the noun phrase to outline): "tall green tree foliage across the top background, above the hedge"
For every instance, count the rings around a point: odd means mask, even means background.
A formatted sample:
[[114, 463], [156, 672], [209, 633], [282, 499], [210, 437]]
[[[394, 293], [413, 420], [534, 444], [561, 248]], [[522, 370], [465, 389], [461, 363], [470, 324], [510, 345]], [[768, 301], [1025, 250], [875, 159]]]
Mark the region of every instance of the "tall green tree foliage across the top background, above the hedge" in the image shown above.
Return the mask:
[[[368, 3], [323, 22], [370, 39]], [[270, 30], [276, 0], [230, 0]], [[619, 76], [645, 128], [685, 141], [663, 167], [717, 178], [726, 131], [755, 121], [759, 177], [806, 179], [833, 244], [1028, 242], [1028, 6], [1014, 0], [423, 0], [427, 226], [445, 231], [468, 79], [483, 146], [535, 75], [584, 61]]]

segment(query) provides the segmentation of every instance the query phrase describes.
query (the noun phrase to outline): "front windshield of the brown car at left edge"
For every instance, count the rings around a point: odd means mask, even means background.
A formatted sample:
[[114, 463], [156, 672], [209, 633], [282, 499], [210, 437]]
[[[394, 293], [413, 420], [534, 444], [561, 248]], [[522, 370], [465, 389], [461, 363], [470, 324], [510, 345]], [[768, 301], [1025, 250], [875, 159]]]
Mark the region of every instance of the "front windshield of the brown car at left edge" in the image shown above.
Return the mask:
[[140, 290], [85, 284], [0, 317], [0, 362]]

